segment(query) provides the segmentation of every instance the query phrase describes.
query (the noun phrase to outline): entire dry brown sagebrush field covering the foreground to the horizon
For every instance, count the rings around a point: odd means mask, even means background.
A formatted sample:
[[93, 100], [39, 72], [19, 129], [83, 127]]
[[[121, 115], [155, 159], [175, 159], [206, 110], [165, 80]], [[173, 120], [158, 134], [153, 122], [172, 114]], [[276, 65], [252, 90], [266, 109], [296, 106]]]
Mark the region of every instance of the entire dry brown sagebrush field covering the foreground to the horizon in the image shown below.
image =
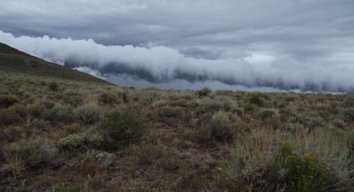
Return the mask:
[[354, 191], [353, 96], [0, 75], [0, 191]]

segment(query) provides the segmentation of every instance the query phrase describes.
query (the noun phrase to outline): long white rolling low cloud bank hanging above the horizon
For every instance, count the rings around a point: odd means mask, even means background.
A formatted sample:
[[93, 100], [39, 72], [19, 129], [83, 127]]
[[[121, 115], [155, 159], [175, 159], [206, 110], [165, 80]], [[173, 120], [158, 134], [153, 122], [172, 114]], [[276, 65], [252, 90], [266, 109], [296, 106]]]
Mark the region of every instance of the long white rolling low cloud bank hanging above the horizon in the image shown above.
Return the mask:
[[125, 74], [151, 83], [219, 81], [248, 88], [354, 93], [351, 62], [299, 61], [289, 56], [257, 54], [245, 58], [192, 58], [166, 46], [105, 46], [91, 39], [15, 37], [2, 31], [0, 42], [101, 77]]

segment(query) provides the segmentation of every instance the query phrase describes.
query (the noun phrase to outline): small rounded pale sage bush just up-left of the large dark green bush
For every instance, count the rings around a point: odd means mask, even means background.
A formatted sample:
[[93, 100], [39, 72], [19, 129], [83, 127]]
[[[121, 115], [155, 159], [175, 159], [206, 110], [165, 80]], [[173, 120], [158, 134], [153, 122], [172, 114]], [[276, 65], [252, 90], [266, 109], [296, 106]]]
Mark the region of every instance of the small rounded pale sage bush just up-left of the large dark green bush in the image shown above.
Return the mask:
[[86, 124], [93, 124], [102, 117], [103, 109], [97, 104], [85, 104], [78, 107], [75, 116]]

